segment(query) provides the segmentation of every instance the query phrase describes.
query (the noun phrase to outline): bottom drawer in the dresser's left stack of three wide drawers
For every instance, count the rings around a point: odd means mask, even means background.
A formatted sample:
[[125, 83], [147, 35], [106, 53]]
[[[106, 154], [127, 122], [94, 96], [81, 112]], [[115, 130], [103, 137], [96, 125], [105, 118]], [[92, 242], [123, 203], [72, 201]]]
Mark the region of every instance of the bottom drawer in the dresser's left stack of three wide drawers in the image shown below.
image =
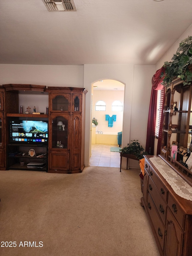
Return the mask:
[[153, 200], [152, 200], [150, 194], [148, 196], [147, 207], [148, 207], [148, 212], [151, 217], [158, 240], [161, 244], [161, 248], [162, 248], [162, 250], [164, 250], [165, 228], [164, 228], [164, 225], [163, 225], [161, 219], [159, 218], [159, 215], [156, 211], [155, 205], [153, 203]]

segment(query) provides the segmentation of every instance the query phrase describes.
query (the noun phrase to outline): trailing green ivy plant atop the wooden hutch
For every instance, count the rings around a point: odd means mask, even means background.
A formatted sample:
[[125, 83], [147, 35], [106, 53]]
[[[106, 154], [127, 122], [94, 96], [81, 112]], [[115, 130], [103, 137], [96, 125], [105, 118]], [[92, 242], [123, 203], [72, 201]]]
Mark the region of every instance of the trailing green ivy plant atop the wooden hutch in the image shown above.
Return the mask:
[[165, 73], [161, 74], [161, 77], [164, 77], [163, 84], [171, 83], [176, 77], [184, 81], [183, 85], [191, 84], [192, 36], [188, 36], [181, 41], [176, 54], [171, 60], [172, 62], [164, 62]]

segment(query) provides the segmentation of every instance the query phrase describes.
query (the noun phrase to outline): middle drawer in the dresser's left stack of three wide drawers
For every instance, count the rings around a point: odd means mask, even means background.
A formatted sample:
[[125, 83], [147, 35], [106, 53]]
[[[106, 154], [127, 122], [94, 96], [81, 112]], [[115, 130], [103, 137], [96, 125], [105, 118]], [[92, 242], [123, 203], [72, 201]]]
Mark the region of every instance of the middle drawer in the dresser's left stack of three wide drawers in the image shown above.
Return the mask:
[[155, 204], [155, 207], [163, 221], [164, 225], [166, 225], [166, 215], [167, 215], [167, 203], [163, 200], [161, 194], [156, 188], [154, 182], [151, 177], [149, 177], [149, 186], [148, 186], [149, 194], [152, 197], [152, 200]]

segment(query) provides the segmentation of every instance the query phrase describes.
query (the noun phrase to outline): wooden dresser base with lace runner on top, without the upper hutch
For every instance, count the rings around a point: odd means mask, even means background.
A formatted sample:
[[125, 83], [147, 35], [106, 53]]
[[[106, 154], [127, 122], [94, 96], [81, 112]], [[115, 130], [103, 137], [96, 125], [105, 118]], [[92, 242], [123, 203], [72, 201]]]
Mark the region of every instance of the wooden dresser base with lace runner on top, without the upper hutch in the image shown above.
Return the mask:
[[192, 178], [162, 156], [145, 156], [142, 206], [159, 251], [192, 255]]

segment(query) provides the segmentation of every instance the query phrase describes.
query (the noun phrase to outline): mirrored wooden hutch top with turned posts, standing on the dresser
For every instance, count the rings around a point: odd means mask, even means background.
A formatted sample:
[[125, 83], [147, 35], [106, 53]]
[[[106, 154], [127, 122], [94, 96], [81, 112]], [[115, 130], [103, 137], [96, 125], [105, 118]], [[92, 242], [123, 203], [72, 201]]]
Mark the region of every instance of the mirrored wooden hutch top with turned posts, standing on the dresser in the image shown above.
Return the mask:
[[183, 81], [176, 78], [165, 86], [161, 155], [168, 159], [173, 141], [178, 148], [187, 149], [192, 145], [192, 85], [184, 86]]

